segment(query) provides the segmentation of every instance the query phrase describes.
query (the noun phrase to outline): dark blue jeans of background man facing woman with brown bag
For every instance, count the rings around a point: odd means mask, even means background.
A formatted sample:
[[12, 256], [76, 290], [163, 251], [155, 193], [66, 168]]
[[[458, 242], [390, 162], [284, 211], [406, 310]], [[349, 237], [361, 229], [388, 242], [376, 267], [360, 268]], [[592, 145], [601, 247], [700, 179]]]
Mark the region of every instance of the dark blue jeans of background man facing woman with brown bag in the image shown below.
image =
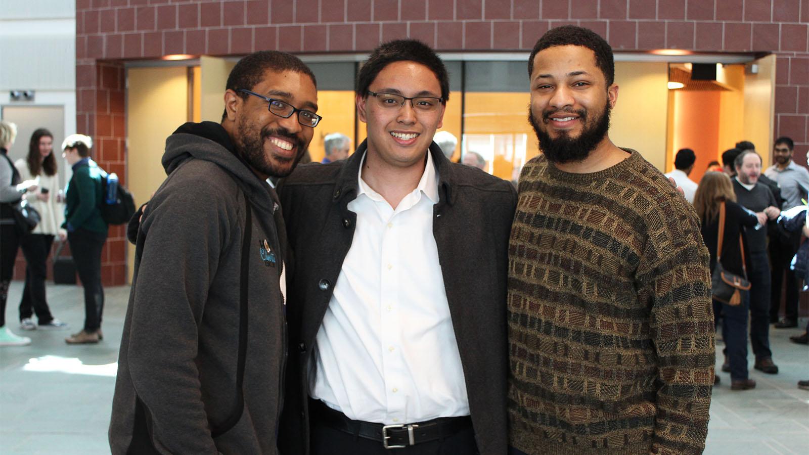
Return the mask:
[[750, 288], [750, 344], [756, 360], [773, 356], [769, 350], [770, 274], [767, 252], [750, 253], [748, 264]]

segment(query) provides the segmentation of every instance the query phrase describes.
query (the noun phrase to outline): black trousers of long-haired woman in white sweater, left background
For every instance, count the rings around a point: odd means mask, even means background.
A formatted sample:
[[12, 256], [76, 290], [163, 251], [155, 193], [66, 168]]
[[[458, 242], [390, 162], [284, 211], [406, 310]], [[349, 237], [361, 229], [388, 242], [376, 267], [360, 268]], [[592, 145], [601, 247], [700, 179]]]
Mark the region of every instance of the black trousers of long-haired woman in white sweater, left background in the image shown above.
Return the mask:
[[19, 302], [19, 319], [31, 317], [36, 313], [40, 324], [48, 324], [53, 316], [45, 299], [45, 280], [48, 279], [48, 255], [53, 245], [53, 236], [47, 234], [28, 234], [19, 240], [19, 246], [25, 255], [25, 286], [23, 299]]

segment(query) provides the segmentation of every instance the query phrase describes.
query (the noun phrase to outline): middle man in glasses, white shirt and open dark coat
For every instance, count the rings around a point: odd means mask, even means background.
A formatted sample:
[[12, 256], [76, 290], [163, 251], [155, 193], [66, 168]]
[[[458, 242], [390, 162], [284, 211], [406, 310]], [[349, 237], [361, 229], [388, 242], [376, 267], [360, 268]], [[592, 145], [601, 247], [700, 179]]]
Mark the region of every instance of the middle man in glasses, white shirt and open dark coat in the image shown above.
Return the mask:
[[358, 74], [367, 139], [279, 182], [294, 272], [283, 453], [506, 451], [509, 182], [432, 142], [449, 81], [416, 40]]

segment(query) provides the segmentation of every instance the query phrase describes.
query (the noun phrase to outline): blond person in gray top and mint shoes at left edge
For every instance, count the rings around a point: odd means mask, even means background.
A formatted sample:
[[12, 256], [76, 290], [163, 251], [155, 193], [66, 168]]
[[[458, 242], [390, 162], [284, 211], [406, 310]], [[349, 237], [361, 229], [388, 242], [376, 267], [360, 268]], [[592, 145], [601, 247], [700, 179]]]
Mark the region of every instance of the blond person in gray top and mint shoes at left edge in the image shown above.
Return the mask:
[[28, 198], [37, 189], [35, 181], [21, 181], [8, 157], [8, 149], [17, 137], [17, 125], [0, 121], [0, 346], [25, 346], [31, 338], [20, 337], [6, 327], [6, 300], [19, 247], [19, 233], [13, 204]]

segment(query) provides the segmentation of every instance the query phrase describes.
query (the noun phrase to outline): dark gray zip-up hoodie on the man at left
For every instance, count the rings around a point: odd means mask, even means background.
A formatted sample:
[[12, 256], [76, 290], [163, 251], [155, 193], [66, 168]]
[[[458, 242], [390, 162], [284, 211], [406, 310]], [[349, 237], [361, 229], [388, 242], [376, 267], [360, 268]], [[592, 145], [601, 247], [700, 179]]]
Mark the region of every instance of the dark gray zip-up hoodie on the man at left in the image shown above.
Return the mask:
[[[286, 232], [275, 191], [232, 148], [213, 122], [185, 124], [167, 138], [168, 176], [138, 232], [109, 427], [114, 454], [277, 453]], [[239, 400], [243, 194], [252, 235]]]

